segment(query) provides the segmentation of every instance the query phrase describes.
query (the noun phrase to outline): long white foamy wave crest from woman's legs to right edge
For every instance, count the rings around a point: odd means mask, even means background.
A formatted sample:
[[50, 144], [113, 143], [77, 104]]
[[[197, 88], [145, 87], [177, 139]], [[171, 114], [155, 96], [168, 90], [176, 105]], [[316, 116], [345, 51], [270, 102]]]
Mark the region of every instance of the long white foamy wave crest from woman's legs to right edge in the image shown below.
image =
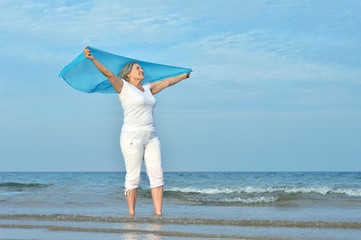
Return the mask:
[[173, 193], [198, 193], [198, 194], [267, 194], [267, 193], [285, 193], [285, 194], [341, 194], [350, 197], [361, 197], [361, 189], [331, 188], [331, 187], [236, 187], [236, 188], [170, 188], [165, 192]]

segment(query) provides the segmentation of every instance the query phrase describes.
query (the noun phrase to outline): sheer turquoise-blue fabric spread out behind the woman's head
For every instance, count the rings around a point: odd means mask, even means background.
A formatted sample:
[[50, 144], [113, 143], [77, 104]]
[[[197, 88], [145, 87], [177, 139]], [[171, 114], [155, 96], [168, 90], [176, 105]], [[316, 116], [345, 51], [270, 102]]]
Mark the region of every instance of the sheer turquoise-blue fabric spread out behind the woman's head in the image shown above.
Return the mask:
[[[120, 70], [125, 64], [131, 61], [137, 61], [144, 70], [143, 82], [155, 82], [192, 71], [190, 68], [150, 63], [114, 55], [93, 47], [88, 48], [91, 50], [91, 54], [115, 75], [120, 73]], [[117, 93], [109, 80], [83, 53], [65, 66], [60, 72], [59, 77], [62, 77], [70, 86], [82, 92]]]

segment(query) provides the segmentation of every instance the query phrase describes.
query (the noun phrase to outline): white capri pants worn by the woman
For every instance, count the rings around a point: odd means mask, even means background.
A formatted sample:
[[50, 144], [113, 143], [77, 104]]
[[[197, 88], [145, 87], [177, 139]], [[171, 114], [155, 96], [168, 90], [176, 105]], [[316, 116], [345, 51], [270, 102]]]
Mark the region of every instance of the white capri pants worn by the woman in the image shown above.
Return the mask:
[[125, 175], [126, 194], [128, 190], [138, 188], [140, 184], [143, 159], [150, 187], [155, 188], [164, 185], [160, 142], [155, 132], [122, 132], [120, 147], [127, 172]]

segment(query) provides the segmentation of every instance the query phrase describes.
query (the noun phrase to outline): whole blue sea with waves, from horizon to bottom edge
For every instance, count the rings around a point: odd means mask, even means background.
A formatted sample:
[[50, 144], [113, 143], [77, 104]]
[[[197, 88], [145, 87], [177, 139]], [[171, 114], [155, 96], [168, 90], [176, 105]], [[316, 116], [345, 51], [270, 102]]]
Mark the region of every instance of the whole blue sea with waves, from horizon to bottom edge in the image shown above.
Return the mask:
[[361, 172], [165, 172], [160, 218], [124, 176], [0, 173], [0, 239], [361, 239]]

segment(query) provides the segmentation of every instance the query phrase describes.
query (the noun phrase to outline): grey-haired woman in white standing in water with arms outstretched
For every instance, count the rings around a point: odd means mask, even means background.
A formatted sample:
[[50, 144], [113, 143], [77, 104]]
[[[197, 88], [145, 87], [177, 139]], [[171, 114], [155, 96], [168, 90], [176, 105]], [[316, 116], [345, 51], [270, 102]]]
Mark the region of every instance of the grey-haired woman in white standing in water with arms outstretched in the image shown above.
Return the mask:
[[137, 188], [140, 184], [143, 159], [150, 181], [154, 216], [161, 216], [164, 182], [160, 143], [155, 133], [153, 120], [155, 106], [153, 95], [183, 79], [189, 78], [190, 73], [166, 78], [162, 81], [141, 84], [144, 80], [144, 71], [137, 62], [126, 64], [119, 76], [117, 76], [95, 59], [88, 47], [84, 48], [84, 56], [90, 59], [99, 71], [107, 77], [115, 91], [119, 93], [119, 99], [123, 107], [124, 122], [120, 136], [120, 146], [126, 167], [125, 195], [129, 216], [135, 214]]

